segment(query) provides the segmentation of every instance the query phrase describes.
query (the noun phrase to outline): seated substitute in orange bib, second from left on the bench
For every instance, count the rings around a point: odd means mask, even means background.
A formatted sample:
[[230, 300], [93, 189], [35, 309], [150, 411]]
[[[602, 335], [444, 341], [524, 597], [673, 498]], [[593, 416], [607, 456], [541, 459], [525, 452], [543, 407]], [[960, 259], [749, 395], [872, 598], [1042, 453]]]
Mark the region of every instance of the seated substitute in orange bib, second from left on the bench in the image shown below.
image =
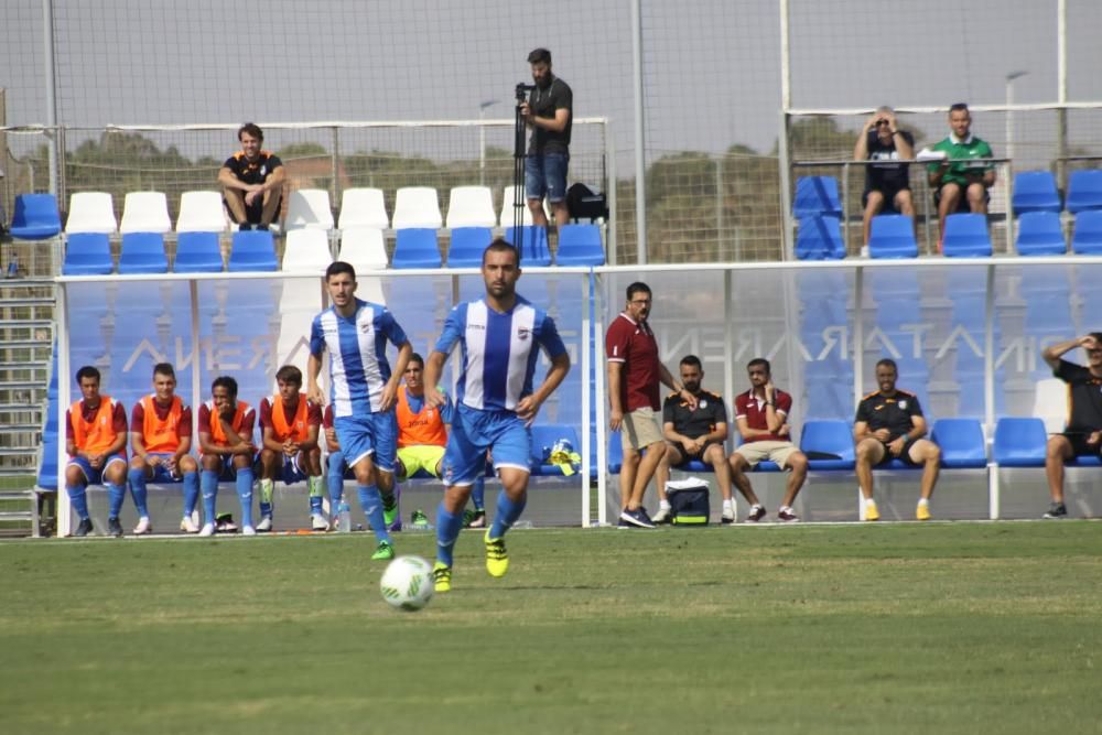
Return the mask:
[[199, 499], [198, 464], [191, 455], [192, 409], [176, 396], [176, 371], [169, 363], [153, 366], [153, 392], [134, 403], [130, 412], [130, 494], [138, 507], [134, 534], [149, 533], [147, 483], [184, 483], [180, 530], [198, 533], [192, 518]]

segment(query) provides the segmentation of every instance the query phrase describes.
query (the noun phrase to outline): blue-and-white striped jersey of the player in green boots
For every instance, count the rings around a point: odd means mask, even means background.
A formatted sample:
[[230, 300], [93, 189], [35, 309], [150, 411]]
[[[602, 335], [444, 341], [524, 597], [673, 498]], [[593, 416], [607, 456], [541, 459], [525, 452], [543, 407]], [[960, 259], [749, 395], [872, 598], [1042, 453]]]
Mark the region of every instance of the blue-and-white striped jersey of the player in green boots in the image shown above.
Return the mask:
[[390, 379], [387, 341], [408, 342], [406, 332], [386, 306], [356, 300], [356, 313], [341, 316], [331, 306], [314, 317], [310, 352], [321, 359], [329, 350], [329, 386], [334, 417], [361, 415], [379, 410]]

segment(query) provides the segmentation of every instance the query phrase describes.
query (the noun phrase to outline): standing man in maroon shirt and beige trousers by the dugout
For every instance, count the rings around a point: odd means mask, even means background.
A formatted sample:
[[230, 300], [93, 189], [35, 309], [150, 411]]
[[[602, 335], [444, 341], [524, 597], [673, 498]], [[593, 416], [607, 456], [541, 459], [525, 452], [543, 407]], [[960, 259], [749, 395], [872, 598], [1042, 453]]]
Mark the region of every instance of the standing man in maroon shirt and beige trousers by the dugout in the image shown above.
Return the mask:
[[642, 507], [642, 496], [666, 455], [666, 442], [656, 419], [661, 408], [659, 381], [679, 393], [690, 410], [696, 408], [696, 397], [678, 385], [658, 359], [658, 342], [647, 323], [650, 305], [650, 287], [640, 282], [627, 287], [627, 304], [605, 334], [608, 428], [620, 431], [624, 448], [619, 517], [623, 527], [655, 528]]

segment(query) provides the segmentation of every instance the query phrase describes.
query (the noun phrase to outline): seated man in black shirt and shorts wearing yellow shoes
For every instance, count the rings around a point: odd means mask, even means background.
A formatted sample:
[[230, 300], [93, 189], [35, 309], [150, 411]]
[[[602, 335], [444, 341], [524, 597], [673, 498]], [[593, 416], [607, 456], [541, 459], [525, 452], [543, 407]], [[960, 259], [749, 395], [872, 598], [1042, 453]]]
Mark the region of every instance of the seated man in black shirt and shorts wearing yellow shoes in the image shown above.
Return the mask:
[[880, 511], [873, 499], [873, 467], [892, 460], [903, 460], [922, 467], [921, 491], [915, 518], [930, 519], [930, 496], [938, 482], [941, 448], [926, 435], [926, 419], [918, 397], [895, 387], [898, 378], [895, 360], [885, 358], [876, 364], [876, 392], [861, 399], [853, 425], [857, 443], [857, 484], [865, 498], [865, 520], [879, 520]]

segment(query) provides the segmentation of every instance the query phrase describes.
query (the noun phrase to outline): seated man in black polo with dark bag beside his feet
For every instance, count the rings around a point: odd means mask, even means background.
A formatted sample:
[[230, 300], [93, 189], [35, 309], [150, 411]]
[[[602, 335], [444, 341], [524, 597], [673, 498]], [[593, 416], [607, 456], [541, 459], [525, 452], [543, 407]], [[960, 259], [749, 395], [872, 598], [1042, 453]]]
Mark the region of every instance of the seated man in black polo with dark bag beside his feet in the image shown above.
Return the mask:
[[727, 441], [727, 409], [721, 397], [700, 387], [704, 369], [699, 357], [685, 355], [680, 368], [681, 385], [696, 397], [696, 407], [690, 408], [681, 393], [671, 394], [662, 403], [666, 454], [655, 472], [659, 508], [651, 520], [656, 523], [670, 520], [670, 501], [666, 497], [670, 467], [700, 460], [715, 471], [715, 482], [723, 495], [723, 522], [730, 523], [735, 519], [735, 511], [731, 502], [731, 467], [723, 451], [723, 443]]

